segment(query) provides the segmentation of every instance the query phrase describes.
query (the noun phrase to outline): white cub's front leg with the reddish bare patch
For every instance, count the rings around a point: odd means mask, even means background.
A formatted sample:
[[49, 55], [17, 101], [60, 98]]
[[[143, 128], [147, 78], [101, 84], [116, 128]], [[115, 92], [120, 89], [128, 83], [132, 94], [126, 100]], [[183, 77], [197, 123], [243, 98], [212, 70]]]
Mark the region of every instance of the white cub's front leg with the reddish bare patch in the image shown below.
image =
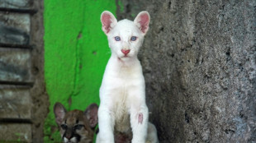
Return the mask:
[[145, 143], [149, 122], [149, 110], [145, 104], [145, 92], [140, 89], [130, 91], [130, 125], [132, 143]]

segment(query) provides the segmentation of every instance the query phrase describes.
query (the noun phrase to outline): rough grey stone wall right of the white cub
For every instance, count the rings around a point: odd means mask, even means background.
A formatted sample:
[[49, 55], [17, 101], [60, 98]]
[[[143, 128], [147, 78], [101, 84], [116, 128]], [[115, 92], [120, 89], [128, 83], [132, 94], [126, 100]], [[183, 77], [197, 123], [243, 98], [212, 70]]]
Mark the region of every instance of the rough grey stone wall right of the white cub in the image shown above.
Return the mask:
[[116, 3], [152, 19], [139, 57], [160, 142], [256, 141], [256, 1]]

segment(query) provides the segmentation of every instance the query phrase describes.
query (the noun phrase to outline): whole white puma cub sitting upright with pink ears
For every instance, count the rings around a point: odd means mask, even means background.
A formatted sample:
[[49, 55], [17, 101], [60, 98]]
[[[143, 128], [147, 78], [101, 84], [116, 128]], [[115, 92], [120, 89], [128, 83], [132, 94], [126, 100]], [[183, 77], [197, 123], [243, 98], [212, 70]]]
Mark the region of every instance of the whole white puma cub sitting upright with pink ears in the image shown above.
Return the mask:
[[140, 12], [135, 21], [117, 22], [111, 12], [105, 11], [101, 21], [111, 58], [100, 89], [97, 143], [157, 143], [156, 129], [148, 122], [145, 79], [137, 58], [149, 30], [149, 13]]

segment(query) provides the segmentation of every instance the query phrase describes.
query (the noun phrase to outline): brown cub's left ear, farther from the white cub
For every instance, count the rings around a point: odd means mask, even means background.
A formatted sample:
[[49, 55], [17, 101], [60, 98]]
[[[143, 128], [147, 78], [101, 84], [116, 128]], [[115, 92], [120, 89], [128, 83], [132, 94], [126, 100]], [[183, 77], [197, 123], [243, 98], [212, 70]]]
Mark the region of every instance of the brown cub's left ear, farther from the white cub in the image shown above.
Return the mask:
[[65, 117], [65, 114], [67, 113], [67, 110], [64, 108], [62, 104], [57, 102], [54, 107], [54, 112], [55, 112], [55, 122], [60, 126], [62, 120]]

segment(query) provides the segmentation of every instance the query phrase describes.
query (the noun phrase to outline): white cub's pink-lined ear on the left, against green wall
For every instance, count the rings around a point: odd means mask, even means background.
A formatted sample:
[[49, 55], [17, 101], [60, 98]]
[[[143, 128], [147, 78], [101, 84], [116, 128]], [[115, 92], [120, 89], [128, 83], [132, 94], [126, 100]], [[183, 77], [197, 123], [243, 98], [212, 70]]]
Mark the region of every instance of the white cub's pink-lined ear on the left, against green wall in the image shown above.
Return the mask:
[[116, 25], [117, 21], [115, 16], [108, 11], [102, 12], [101, 16], [101, 21], [102, 21], [102, 30], [105, 32], [107, 35], [111, 29]]

